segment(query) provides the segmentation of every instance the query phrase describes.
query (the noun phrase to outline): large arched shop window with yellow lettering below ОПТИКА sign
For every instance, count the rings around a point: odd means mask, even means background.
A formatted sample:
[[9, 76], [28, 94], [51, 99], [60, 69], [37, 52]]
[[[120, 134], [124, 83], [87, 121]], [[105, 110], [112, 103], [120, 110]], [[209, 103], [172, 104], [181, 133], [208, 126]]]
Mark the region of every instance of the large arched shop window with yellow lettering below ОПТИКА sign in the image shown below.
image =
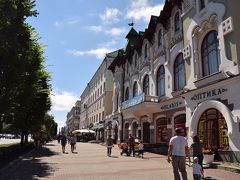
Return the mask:
[[208, 109], [200, 117], [198, 136], [209, 149], [227, 149], [228, 127], [223, 115], [217, 109]]

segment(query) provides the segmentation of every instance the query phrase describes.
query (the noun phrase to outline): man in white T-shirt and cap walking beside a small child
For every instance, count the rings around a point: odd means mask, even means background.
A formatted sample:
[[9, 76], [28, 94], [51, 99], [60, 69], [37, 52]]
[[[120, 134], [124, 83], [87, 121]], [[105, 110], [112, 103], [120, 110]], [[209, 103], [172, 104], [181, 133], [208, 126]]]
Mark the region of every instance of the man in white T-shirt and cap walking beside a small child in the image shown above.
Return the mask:
[[178, 171], [181, 172], [182, 179], [187, 180], [186, 155], [188, 156], [190, 164], [190, 154], [187, 139], [181, 136], [181, 130], [179, 128], [175, 129], [175, 133], [176, 135], [173, 136], [169, 142], [168, 162], [170, 163], [170, 157], [172, 157], [174, 180], [180, 180]]

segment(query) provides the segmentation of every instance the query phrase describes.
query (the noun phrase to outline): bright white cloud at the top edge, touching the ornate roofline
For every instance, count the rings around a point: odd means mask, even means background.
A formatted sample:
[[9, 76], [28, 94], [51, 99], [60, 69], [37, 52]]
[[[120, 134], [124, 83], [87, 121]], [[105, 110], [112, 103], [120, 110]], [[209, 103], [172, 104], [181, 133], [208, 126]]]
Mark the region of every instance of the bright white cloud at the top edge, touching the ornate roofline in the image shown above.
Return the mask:
[[160, 11], [163, 9], [163, 4], [151, 6], [148, 0], [134, 0], [127, 10], [126, 18], [139, 21], [143, 19], [149, 22], [151, 15], [159, 16]]

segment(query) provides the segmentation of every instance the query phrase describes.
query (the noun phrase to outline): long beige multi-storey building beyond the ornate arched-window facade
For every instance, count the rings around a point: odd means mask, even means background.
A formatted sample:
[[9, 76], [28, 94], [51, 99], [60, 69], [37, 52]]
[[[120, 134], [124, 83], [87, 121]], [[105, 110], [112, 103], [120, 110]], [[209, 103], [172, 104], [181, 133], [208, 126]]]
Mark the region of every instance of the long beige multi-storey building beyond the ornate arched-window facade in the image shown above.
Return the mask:
[[87, 84], [81, 95], [81, 113], [79, 129], [92, 128], [97, 139], [104, 137], [101, 123], [112, 113], [113, 75], [108, 66], [115, 58], [116, 52], [106, 54], [103, 62]]

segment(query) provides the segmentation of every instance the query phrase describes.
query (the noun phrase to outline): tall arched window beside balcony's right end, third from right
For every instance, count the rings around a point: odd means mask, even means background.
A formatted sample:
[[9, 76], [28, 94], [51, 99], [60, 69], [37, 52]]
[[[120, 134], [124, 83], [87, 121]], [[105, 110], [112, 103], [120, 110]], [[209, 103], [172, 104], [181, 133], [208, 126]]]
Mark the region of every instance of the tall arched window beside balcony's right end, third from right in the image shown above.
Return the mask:
[[165, 70], [163, 65], [157, 71], [157, 96], [165, 95]]

